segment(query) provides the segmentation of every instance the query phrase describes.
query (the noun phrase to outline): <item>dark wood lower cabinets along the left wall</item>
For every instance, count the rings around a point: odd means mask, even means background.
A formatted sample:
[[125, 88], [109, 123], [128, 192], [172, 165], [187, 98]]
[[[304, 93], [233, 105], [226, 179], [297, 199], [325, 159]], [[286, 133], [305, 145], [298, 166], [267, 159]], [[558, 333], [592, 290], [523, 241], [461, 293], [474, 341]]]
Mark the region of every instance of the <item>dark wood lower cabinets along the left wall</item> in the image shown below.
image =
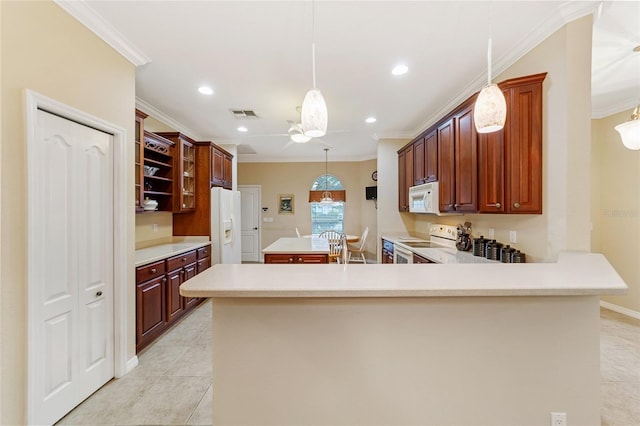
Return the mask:
[[210, 251], [207, 246], [136, 268], [136, 352], [204, 300], [182, 297], [180, 285], [211, 266]]

